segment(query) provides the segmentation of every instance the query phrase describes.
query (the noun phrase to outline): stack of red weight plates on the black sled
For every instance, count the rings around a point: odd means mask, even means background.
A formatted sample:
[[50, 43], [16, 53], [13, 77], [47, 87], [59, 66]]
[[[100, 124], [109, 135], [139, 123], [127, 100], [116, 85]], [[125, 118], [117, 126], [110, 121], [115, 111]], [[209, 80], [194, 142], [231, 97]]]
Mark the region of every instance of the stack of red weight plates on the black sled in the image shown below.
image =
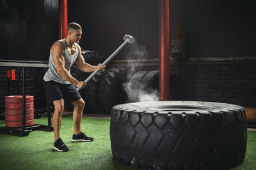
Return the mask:
[[[34, 124], [34, 97], [26, 96], [26, 126]], [[22, 127], [22, 96], [5, 97], [6, 127]]]

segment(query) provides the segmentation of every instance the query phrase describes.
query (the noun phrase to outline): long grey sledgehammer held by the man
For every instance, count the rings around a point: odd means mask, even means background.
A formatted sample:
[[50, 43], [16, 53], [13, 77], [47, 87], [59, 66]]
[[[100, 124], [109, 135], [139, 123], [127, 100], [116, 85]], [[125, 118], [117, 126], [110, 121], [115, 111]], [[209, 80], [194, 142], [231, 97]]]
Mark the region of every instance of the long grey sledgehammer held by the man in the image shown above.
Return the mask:
[[[108, 59], [104, 60], [104, 62], [102, 62], [102, 65], [106, 65], [111, 59], [113, 59], [113, 57], [115, 57], [116, 53], [118, 53], [120, 50], [122, 50], [122, 48], [124, 48], [124, 46], [129, 43], [129, 44], [133, 44], [135, 42], [135, 39], [134, 37], [130, 36], [130, 35], [125, 35], [124, 36], [124, 43], [122, 43], [122, 45], [120, 45], [116, 50], [115, 52], [113, 52], [111, 55], [109, 55]], [[93, 76], [95, 76], [95, 74], [97, 74], [99, 71], [99, 69], [93, 71], [92, 74], [90, 74], [90, 76], [88, 76], [88, 78], [86, 78], [86, 80], [84, 80], [85, 83], [88, 83], [92, 78]], [[81, 90], [79, 88], [77, 88], [76, 90]]]

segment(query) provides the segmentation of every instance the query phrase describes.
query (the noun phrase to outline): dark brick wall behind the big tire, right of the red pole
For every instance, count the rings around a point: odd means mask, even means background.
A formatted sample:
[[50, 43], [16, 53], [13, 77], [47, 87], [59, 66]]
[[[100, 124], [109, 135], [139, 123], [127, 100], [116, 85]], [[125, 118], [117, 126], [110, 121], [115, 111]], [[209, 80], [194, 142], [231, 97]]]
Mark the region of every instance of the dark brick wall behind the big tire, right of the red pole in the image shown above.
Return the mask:
[[[158, 66], [140, 67], [156, 70]], [[170, 64], [170, 100], [211, 101], [256, 108], [255, 61], [178, 61]]]

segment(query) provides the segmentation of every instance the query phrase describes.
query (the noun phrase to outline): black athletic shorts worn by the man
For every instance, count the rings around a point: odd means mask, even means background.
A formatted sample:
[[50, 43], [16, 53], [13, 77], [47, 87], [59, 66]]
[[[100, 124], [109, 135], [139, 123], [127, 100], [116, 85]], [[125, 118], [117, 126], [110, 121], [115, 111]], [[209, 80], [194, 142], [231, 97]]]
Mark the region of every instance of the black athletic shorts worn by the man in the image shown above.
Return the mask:
[[63, 84], [56, 81], [44, 81], [44, 87], [49, 103], [60, 99], [72, 102], [82, 98], [76, 90], [76, 87], [72, 84]]

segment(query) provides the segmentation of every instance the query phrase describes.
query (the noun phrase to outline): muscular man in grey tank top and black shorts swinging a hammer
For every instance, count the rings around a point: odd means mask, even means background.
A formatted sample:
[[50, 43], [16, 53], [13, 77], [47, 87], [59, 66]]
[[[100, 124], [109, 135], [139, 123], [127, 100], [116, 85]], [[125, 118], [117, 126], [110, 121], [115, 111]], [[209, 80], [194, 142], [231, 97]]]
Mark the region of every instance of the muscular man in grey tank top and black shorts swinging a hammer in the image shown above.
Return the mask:
[[[64, 109], [64, 100], [74, 104], [73, 122], [74, 135], [72, 142], [93, 141], [93, 138], [81, 132], [81, 120], [83, 116], [84, 101], [81, 99], [76, 87], [83, 89], [84, 81], [77, 81], [70, 74], [70, 67], [74, 62], [81, 71], [92, 72], [96, 69], [103, 71], [106, 66], [98, 64], [91, 66], [84, 62], [81, 48], [77, 44], [82, 36], [82, 28], [79, 24], [72, 22], [68, 24], [67, 38], [56, 41], [50, 50], [49, 69], [44, 75], [44, 86], [49, 102], [54, 104], [52, 115], [52, 126], [54, 130], [54, 150], [67, 152], [68, 146], [60, 138], [61, 115]], [[76, 86], [76, 87], [75, 87]]]

